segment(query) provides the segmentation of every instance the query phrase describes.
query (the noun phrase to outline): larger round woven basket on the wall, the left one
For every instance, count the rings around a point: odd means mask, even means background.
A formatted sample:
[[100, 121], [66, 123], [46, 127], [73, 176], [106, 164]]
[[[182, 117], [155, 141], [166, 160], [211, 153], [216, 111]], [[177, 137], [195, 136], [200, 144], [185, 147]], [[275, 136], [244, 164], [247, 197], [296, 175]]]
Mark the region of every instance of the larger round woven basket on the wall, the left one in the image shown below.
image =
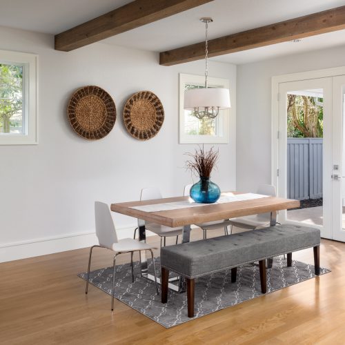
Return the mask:
[[116, 121], [114, 101], [98, 86], [84, 86], [73, 93], [67, 112], [77, 135], [90, 140], [106, 137]]

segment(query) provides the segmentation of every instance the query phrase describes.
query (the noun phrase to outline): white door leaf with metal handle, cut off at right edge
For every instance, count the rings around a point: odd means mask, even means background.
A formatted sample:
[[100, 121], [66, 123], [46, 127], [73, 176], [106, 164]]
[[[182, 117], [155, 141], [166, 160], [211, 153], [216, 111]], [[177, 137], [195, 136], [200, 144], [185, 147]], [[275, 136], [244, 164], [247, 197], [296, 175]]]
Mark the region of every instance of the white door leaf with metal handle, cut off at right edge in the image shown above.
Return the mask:
[[345, 76], [333, 77], [332, 238], [345, 242]]

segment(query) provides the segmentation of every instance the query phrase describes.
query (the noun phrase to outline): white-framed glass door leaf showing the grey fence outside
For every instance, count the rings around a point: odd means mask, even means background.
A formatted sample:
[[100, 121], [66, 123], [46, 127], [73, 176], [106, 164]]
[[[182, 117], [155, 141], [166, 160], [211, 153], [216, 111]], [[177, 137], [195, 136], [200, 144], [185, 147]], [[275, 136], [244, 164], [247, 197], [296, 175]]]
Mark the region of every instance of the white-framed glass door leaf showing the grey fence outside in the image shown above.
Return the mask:
[[331, 238], [332, 79], [279, 83], [278, 195], [301, 201], [279, 213]]

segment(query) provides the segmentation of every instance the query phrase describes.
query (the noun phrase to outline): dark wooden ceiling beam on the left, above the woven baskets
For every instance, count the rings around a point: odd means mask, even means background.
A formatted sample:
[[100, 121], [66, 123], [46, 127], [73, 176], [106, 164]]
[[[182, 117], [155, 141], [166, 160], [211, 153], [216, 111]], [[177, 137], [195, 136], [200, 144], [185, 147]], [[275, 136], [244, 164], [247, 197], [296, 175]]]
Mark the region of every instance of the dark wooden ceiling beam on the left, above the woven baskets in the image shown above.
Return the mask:
[[55, 50], [69, 52], [213, 0], [136, 0], [55, 35]]

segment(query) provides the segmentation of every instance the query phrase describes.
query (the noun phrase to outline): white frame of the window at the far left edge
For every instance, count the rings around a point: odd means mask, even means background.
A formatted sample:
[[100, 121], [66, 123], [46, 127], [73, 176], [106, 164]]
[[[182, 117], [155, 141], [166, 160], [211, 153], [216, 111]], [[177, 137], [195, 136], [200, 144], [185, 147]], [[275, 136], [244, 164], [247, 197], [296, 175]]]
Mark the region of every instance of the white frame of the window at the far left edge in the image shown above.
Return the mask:
[[23, 66], [23, 133], [0, 134], [0, 145], [36, 145], [38, 141], [38, 55], [0, 50], [0, 63]]

